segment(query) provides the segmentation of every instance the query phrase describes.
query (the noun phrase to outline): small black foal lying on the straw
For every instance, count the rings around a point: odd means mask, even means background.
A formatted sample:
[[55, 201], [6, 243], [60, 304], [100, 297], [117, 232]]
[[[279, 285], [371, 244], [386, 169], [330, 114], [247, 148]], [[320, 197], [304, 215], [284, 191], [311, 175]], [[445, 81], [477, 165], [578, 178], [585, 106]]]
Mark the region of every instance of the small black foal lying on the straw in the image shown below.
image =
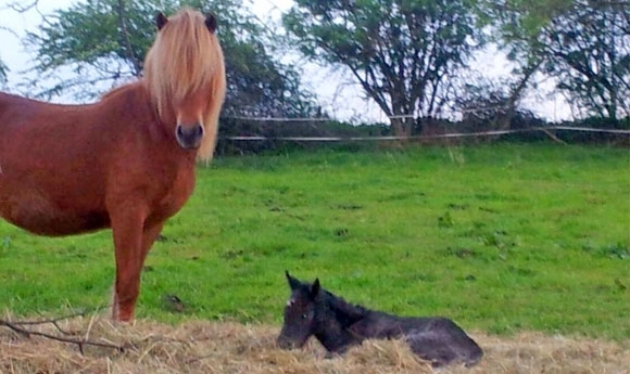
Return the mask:
[[277, 344], [281, 348], [302, 347], [311, 336], [335, 353], [368, 338], [401, 338], [412, 351], [431, 364], [442, 366], [476, 364], [483, 351], [475, 340], [442, 317], [398, 317], [345, 302], [322, 288], [319, 280], [302, 283], [286, 272], [291, 297], [285, 308], [285, 323]]

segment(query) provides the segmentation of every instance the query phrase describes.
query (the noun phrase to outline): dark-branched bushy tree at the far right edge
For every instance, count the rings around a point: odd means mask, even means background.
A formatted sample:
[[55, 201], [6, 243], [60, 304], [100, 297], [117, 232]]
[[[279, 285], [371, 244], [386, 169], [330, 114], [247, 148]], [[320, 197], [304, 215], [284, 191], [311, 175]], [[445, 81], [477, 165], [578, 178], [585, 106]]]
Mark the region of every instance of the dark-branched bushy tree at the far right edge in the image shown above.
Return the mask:
[[543, 28], [544, 72], [576, 108], [603, 118], [630, 115], [630, 4], [575, 1]]

